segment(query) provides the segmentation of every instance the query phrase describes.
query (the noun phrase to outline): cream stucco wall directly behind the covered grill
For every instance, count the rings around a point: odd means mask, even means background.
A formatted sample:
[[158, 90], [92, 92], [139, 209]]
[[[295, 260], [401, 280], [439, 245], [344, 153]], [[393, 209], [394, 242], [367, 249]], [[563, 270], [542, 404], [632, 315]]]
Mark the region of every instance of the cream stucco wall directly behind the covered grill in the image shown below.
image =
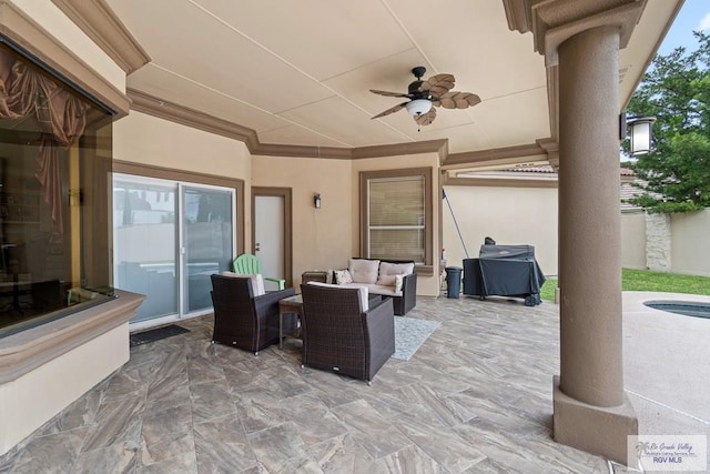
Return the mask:
[[[446, 185], [469, 258], [477, 258], [486, 236], [500, 245], [535, 246], [546, 275], [557, 274], [557, 188]], [[446, 264], [463, 266], [464, 244], [444, 201]]]

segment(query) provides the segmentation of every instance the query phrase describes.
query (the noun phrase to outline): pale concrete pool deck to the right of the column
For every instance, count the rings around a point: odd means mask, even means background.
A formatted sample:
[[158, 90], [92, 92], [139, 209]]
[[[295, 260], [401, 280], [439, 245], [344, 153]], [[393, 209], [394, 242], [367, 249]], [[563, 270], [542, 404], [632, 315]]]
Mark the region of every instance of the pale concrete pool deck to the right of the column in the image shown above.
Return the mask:
[[651, 300], [710, 304], [710, 296], [623, 292], [625, 386], [639, 433], [710, 440], [710, 319], [643, 305]]

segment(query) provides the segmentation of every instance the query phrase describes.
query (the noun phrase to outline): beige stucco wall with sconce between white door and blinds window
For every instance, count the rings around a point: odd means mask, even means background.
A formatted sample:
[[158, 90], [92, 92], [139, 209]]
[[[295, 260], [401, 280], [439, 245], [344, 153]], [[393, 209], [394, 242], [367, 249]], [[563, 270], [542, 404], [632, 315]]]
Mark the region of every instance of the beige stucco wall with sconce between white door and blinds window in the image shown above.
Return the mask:
[[[305, 271], [344, 266], [353, 246], [348, 160], [254, 157], [252, 185], [292, 189], [294, 288]], [[321, 209], [313, 205], [316, 192]]]

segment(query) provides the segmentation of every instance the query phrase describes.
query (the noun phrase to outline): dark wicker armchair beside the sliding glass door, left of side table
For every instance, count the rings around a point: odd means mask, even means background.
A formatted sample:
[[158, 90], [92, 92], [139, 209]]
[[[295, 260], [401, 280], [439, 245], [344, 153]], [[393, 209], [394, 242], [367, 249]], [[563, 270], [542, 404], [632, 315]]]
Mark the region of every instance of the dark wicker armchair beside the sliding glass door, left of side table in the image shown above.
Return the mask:
[[[212, 342], [253, 352], [278, 342], [278, 302], [294, 289], [254, 296], [248, 278], [212, 275], [214, 332]], [[296, 327], [294, 314], [284, 315], [284, 331]]]

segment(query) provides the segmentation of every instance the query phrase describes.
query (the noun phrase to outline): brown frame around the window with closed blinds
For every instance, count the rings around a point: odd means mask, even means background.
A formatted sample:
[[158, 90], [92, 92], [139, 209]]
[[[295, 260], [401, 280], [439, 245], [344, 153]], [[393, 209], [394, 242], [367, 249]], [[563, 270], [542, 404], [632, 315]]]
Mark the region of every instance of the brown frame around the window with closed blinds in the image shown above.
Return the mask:
[[405, 168], [399, 170], [375, 170], [361, 171], [359, 173], [359, 254], [363, 258], [369, 258], [367, 254], [367, 244], [369, 235], [367, 232], [367, 181], [381, 178], [406, 178], [406, 177], [424, 177], [424, 265], [417, 273], [425, 275], [432, 274], [434, 265], [434, 202], [432, 199], [432, 186], [434, 180], [434, 171], [432, 168]]

